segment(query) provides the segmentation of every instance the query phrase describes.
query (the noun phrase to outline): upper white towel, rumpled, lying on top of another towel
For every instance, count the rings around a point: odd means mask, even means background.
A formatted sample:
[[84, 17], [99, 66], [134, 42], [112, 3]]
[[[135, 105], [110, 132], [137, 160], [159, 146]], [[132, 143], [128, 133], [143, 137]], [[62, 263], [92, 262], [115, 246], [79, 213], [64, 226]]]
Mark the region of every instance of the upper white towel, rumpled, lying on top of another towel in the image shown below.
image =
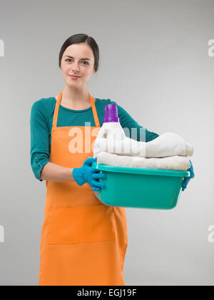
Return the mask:
[[108, 152], [121, 156], [141, 156], [145, 158], [165, 156], [192, 156], [193, 146], [181, 136], [173, 132], [161, 134], [153, 141], [136, 141], [126, 139], [97, 138], [93, 148], [93, 157], [100, 152]]

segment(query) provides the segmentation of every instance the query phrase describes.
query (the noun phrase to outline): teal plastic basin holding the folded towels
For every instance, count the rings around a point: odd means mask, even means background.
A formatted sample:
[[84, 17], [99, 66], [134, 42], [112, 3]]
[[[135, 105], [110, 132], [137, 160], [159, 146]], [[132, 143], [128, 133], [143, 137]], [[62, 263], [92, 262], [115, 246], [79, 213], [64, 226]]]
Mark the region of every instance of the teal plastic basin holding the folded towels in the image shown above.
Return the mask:
[[173, 209], [178, 202], [183, 179], [189, 171], [125, 168], [92, 164], [106, 174], [99, 181], [106, 184], [94, 191], [103, 204], [142, 209]]

